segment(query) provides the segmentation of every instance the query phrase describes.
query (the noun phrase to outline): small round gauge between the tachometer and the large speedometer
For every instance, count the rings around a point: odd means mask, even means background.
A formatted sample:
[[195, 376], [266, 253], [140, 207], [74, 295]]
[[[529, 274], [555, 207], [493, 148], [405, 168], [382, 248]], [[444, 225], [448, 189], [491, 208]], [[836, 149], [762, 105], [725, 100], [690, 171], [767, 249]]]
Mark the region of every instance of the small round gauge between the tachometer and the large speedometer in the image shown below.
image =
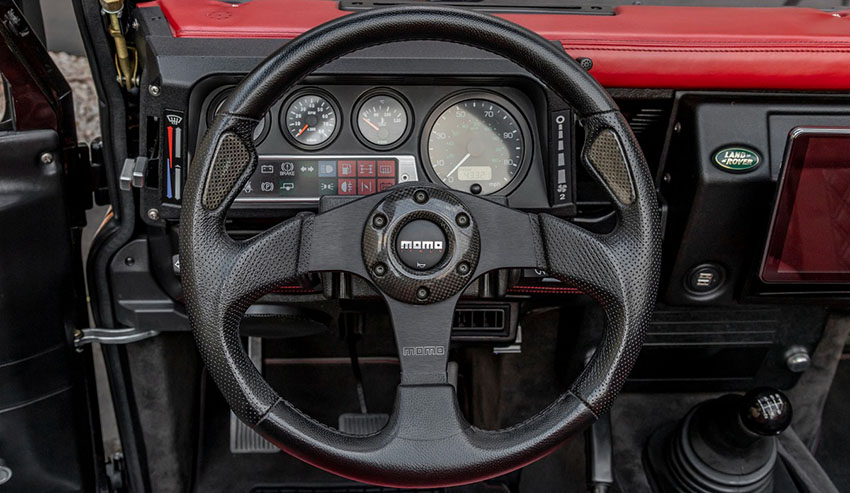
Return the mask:
[[389, 149], [409, 134], [410, 107], [399, 94], [388, 90], [370, 92], [356, 108], [354, 128], [369, 147]]

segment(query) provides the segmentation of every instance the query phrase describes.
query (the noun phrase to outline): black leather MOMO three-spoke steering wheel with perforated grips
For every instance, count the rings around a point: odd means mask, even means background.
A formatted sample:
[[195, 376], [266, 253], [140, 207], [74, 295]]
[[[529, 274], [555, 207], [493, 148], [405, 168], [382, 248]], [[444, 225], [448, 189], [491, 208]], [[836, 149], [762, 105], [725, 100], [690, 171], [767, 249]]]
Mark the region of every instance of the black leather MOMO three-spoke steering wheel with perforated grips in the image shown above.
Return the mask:
[[[251, 136], [271, 105], [343, 54], [409, 40], [496, 53], [567, 101], [584, 128], [582, 161], [617, 210], [615, 230], [592, 234], [551, 215], [407, 183], [320, 214], [302, 213], [244, 241], [229, 237], [225, 214], [257, 165]], [[234, 90], [192, 163], [180, 256], [198, 348], [239, 419], [284, 451], [337, 475], [383, 486], [439, 487], [520, 468], [609, 409], [638, 355], [655, 303], [659, 224], [653, 181], [631, 129], [607, 92], [563, 49], [484, 14], [386, 8], [302, 34]], [[417, 234], [434, 242], [426, 247], [443, 250], [425, 270], [410, 265], [402, 251], [403, 241]], [[602, 306], [606, 327], [568, 392], [521, 424], [485, 431], [464, 419], [446, 365], [452, 317], [464, 288], [505, 268], [544, 269], [581, 289]], [[401, 383], [388, 424], [371, 435], [345, 434], [300, 412], [272, 390], [240, 343], [240, 320], [252, 302], [305, 273], [322, 271], [371, 281], [389, 308]]]

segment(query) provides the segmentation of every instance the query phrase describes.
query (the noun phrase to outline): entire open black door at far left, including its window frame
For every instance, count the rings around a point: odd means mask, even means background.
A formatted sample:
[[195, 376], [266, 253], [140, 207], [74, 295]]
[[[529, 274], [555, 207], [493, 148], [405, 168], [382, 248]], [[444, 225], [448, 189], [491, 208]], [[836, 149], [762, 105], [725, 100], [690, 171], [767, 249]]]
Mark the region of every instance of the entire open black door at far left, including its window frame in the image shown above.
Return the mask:
[[0, 491], [103, 491], [91, 350], [74, 348], [88, 162], [68, 83], [13, 0], [0, 19]]

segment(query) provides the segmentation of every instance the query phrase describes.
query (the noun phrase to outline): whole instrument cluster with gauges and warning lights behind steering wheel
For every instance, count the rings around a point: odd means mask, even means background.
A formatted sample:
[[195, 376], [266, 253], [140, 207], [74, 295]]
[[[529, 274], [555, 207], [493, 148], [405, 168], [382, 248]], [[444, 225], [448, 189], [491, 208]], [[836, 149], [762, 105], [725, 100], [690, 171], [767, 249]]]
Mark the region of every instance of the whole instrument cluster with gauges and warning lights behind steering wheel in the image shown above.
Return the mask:
[[[206, 98], [198, 139], [231, 88]], [[540, 126], [537, 105], [514, 87], [298, 87], [257, 126], [260, 165], [237, 205], [309, 204], [430, 180], [548, 208]]]

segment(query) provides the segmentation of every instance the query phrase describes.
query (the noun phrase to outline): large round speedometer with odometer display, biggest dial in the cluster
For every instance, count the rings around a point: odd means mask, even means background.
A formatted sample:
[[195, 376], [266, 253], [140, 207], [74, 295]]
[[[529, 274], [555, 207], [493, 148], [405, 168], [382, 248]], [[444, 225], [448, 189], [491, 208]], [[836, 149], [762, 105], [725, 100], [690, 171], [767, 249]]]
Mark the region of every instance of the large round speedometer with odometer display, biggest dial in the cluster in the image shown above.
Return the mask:
[[504, 98], [463, 94], [439, 105], [425, 125], [423, 156], [432, 178], [454, 190], [491, 194], [519, 176], [527, 126]]

